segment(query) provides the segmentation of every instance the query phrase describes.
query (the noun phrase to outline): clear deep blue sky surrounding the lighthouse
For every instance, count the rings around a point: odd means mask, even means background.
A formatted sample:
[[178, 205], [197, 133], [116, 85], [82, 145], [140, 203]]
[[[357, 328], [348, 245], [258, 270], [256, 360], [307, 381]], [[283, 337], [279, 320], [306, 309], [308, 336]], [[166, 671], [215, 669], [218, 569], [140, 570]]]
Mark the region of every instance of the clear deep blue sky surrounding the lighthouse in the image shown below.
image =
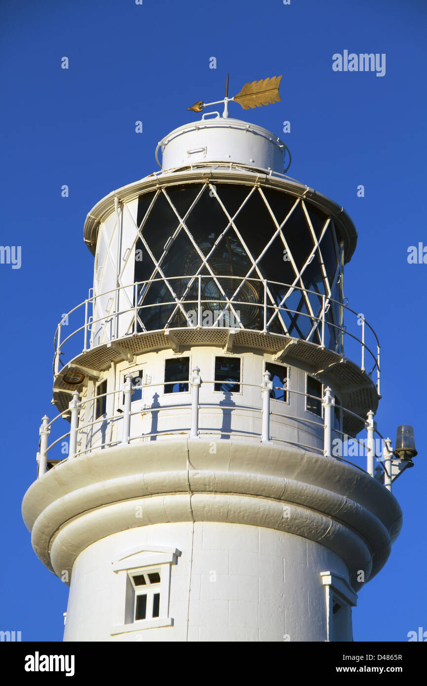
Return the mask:
[[[53, 333], [93, 277], [86, 213], [157, 168], [157, 142], [194, 118], [193, 102], [223, 96], [227, 71], [231, 95], [283, 74], [280, 104], [247, 113], [231, 104], [230, 113], [282, 136], [289, 174], [354, 220], [345, 294], [382, 344], [378, 427], [393, 440], [397, 425], [415, 427], [416, 466], [394, 491], [402, 533], [359, 594], [354, 638], [406, 641], [427, 629], [427, 264], [406, 259], [408, 246], [427, 245], [426, 18], [424, 0], [3, 0], [0, 243], [21, 246], [22, 265], [0, 265], [0, 629], [62, 639], [68, 589], [36, 558], [21, 500], [36, 475], [40, 418], [53, 416]], [[385, 75], [332, 71], [332, 55], [345, 49], [385, 53]]]

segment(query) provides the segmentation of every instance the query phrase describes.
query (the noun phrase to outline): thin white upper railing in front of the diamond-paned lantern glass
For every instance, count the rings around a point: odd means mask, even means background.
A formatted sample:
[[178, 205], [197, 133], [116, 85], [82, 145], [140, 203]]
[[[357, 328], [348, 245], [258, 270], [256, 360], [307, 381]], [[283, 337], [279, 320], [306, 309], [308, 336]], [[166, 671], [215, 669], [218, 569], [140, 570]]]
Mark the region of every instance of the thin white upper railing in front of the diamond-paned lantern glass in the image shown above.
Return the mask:
[[[71, 340], [76, 342], [77, 346], [74, 346], [73, 351], [69, 351], [69, 355], [71, 355], [71, 357], [69, 356], [68, 359], [72, 359], [82, 351], [88, 351], [88, 349], [93, 349], [98, 345], [106, 344], [107, 342], [111, 342], [116, 338], [123, 338], [125, 335], [131, 335], [132, 333], [137, 333], [138, 331], [165, 331], [169, 328], [177, 328], [171, 322], [173, 317], [172, 313], [161, 329], [147, 329], [144, 323], [145, 314], [149, 316], [149, 314], [151, 314], [154, 310], [162, 311], [163, 309], [163, 311], [166, 312], [167, 310], [164, 308], [170, 308], [171, 306], [174, 306], [174, 312], [179, 311], [180, 314], [182, 314], [185, 327], [188, 328], [211, 329], [212, 327], [232, 327], [234, 329], [245, 329], [244, 323], [241, 322], [241, 318], [239, 316], [240, 310], [236, 309], [236, 307], [251, 307], [258, 308], [260, 310], [259, 319], [263, 321], [262, 329], [251, 329], [251, 331], [269, 333], [271, 324], [279, 322], [284, 335], [294, 336], [293, 332], [289, 333], [284, 320], [280, 318], [280, 313], [286, 311], [291, 315], [296, 315], [299, 318], [301, 317], [309, 320], [310, 332], [304, 340], [313, 341], [314, 339], [316, 342], [315, 336], [317, 334], [319, 337], [317, 340], [320, 340], [321, 347], [328, 347], [330, 350], [336, 351], [340, 355], [344, 355], [344, 340], [347, 341], [346, 346], [349, 344], [349, 342], [352, 342], [353, 345], [355, 344], [357, 347], [360, 347], [359, 359], [361, 370], [363, 372], [367, 371], [369, 377], [372, 377], [372, 374], [374, 371], [376, 371], [376, 388], [378, 394], [380, 394], [380, 343], [378, 341], [378, 337], [369, 322], [365, 320], [363, 314], [357, 313], [354, 309], [348, 307], [348, 305], [344, 305], [339, 300], [334, 300], [334, 298], [326, 295], [320, 296], [315, 291], [298, 287], [296, 285], [281, 283], [279, 281], [267, 281], [230, 275], [215, 276], [215, 279], [219, 281], [221, 281], [221, 279], [228, 279], [229, 281], [235, 279], [236, 283], [239, 282], [239, 285], [236, 287], [236, 296], [238, 295], [242, 283], [247, 282], [258, 284], [260, 287], [260, 293], [263, 293], [263, 296], [260, 296], [260, 301], [258, 303], [247, 302], [247, 300], [237, 300], [235, 296], [227, 298], [222, 294], [218, 294], [218, 296], [208, 299], [202, 298], [202, 281], [206, 281], [207, 279], [208, 281], [212, 281], [211, 276], [202, 276], [201, 274], [195, 274], [191, 276], [187, 274], [184, 276], [169, 277], [167, 281], [173, 282], [177, 279], [184, 279], [188, 281], [188, 285], [186, 287], [187, 294], [190, 291], [191, 286], [193, 284], [197, 284], [197, 298], [184, 299], [185, 296], [183, 296], [182, 298], [171, 298], [163, 303], [144, 304], [143, 298], [145, 298], [145, 295], [149, 292], [149, 286], [159, 281], [165, 281], [164, 279], [151, 279], [149, 281], [138, 281], [127, 286], [119, 286], [111, 289], [110, 291], [106, 291], [105, 293], [86, 298], [86, 300], [80, 303], [80, 305], [74, 307], [71, 311], [69, 311], [68, 314], [62, 317], [62, 320], [59, 322], [58, 327], [56, 328], [53, 340], [55, 347], [55, 356], [53, 358], [54, 375], [58, 375], [60, 372], [60, 364], [62, 364], [60, 357], [64, 354], [64, 346], [66, 346], [66, 344], [68, 344]], [[290, 307], [286, 306], [286, 298], [284, 298], [284, 302], [279, 304], [271, 302], [271, 298], [273, 298], [273, 296], [271, 296], [271, 287], [291, 289], [290, 294], [295, 291], [299, 291], [302, 294], [315, 296], [317, 299], [319, 299], [319, 314], [309, 314], [308, 312], [291, 309]], [[133, 294], [132, 304], [130, 304], [130, 298], [128, 296], [130, 289], [132, 289]], [[106, 296], [110, 296], [109, 299], [112, 302], [119, 303], [120, 292], [123, 292], [123, 294], [126, 295], [128, 307], [125, 307], [124, 309], [117, 308], [117, 311], [113, 311], [111, 313], [108, 312], [107, 314], [104, 313], [102, 316], [96, 316], [97, 308], [100, 306], [102, 298], [105, 299]], [[219, 309], [212, 311], [212, 305], [218, 306]], [[330, 311], [335, 306], [337, 309], [339, 309], [339, 312], [342, 313], [339, 316], [339, 323], [332, 320], [332, 316], [330, 314]], [[69, 319], [77, 316], [77, 311], [79, 311], [79, 314], [80, 312], [82, 314], [81, 324], [77, 328], [72, 329], [71, 333], [68, 333], [68, 335], [66, 335], [64, 338], [64, 327], [69, 327]], [[206, 311], [210, 311], [210, 313], [212, 313], [212, 321], [209, 322], [209, 324], [204, 324], [203, 321], [203, 315]], [[346, 325], [343, 323], [344, 311], [347, 314], [347, 319], [350, 319], [350, 327], [352, 327], [352, 331], [350, 331], [348, 321], [346, 322]], [[195, 315], [194, 317], [191, 316], [192, 313]], [[119, 324], [121, 323], [121, 318], [122, 323], [123, 318], [125, 318], [125, 323], [122, 327], [124, 331], [119, 334]], [[230, 322], [230, 318], [232, 318], [232, 323]], [[326, 346], [326, 334], [328, 331], [330, 334], [332, 334], [332, 340], [334, 340], [334, 344], [332, 346]], [[277, 332], [272, 331], [272, 333]], [[370, 336], [369, 341], [367, 341], [367, 333], [369, 333]], [[78, 334], [80, 334], [80, 338], [78, 337]], [[95, 334], [97, 342], [95, 342]], [[300, 337], [297, 336], [297, 338]], [[83, 344], [82, 348], [80, 347], [78, 340], [80, 340], [80, 344]], [[347, 355], [347, 357], [350, 356]], [[369, 366], [367, 366], [367, 358], [371, 360]], [[350, 359], [352, 358], [350, 357]]]

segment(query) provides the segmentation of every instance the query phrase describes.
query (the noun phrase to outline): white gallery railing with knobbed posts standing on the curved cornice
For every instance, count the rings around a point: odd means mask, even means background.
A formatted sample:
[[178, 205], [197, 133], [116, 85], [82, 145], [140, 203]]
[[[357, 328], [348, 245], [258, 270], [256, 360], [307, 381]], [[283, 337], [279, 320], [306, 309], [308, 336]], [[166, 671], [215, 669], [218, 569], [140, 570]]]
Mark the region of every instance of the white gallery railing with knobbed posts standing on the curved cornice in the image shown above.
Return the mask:
[[[178, 382], [161, 381], [158, 383], [147, 383], [143, 384], [142, 388], [153, 388], [159, 386], [164, 387], [175, 383]], [[271, 391], [273, 390], [273, 382], [270, 379], [269, 372], [264, 373], [263, 379], [260, 384], [243, 383], [240, 381], [232, 380], [221, 381], [219, 379], [202, 380], [199, 374], [199, 368], [197, 366], [194, 366], [188, 381], [180, 381], [180, 383], [186, 383], [189, 388], [191, 387], [190, 402], [178, 402], [164, 405], [158, 404], [156, 406], [151, 407], [145, 405], [143, 407], [143, 413], [151, 413], [152, 416], [155, 412], [164, 413], [167, 411], [173, 411], [174, 413], [176, 413], [177, 410], [185, 410], [188, 411], [190, 416], [189, 425], [186, 425], [183, 419], [183, 425], [178, 429], [167, 428], [162, 429], [160, 431], [157, 430], [147, 432], [142, 432], [140, 426], [139, 431], [137, 431], [135, 435], [132, 435], [132, 416], [135, 416], [137, 414], [141, 415], [141, 410], [132, 412], [132, 395], [134, 394], [134, 391], [138, 388], [141, 388], [141, 386], [134, 386], [132, 382], [132, 374], [129, 373], [126, 375], [123, 388], [99, 394], [95, 397], [91, 397], [84, 401], [80, 401], [79, 394], [77, 391], [75, 391], [73, 393], [73, 398], [69, 403], [68, 410], [61, 412], [51, 421], [49, 421], [49, 418], [46, 415], [42, 418], [42, 425], [40, 426], [39, 452], [37, 458], [39, 464], [38, 477], [42, 476], [45, 473], [48, 463], [55, 465], [60, 462], [63, 462], [64, 460], [72, 460], [74, 458], [78, 458], [79, 456], [83, 456], [87, 453], [96, 451], [98, 449], [106, 449], [113, 445], [127, 445], [132, 441], [141, 441], [147, 439], [159, 440], [164, 436], [176, 436], [178, 434], [180, 436], [187, 436], [188, 438], [197, 440], [199, 436], [202, 436], [203, 434], [208, 434], [210, 436], [228, 436], [229, 438], [241, 436], [244, 438], [250, 438], [253, 440], [260, 441], [263, 444], [269, 444], [271, 442], [286, 443], [294, 447], [300, 447], [303, 449], [308, 449], [310, 451], [316, 451], [319, 454], [323, 454], [326, 458], [335, 458], [339, 461], [353, 464], [354, 466], [358, 467], [358, 469], [362, 469], [362, 471], [367, 472], [369, 475], [371, 475], [371, 477], [376, 476], [376, 478], [382, 480], [386, 488], [391, 490], [392, 450], [390, 447], [389, 439], [384, 439], [376, 429], [376, 425], [374, 423], [374, 412], [369, 411], [367, 414], [367, 418], [363, 418], [361, 416], [358, 416], [354, 412], [347, 410], [345, 407], [341, 407], [341, 405], [335, 405], [334, 395], [332, 394], [332, 391], [329, 387], [325, 388], [323, 397], [293, 390], [292, 388], [288, 388], [287, 384], [285, 384], [284, 386], [274, 387], [274, 390], [278, 389], [286, 392], [286, 395], [287, 397], [289, 397], [289, 399], [291, 399], [292, 395], [299, 395], [305, 397], [306, 399], [310, 399], [315, 403], [318, 403], [319, 407], [321, 407], [321, 414], [319, 414], [316, 419], [310, 419], [306, 416], [302, 416], [302, 414], [292, 415], [285, 414], [284, 411], [271, 411]], [[215, 383], [230, 383], [230, 385], [232, 384], [232, 386], [239, 386], [240, 388], [243, 386], [258, 388], [260, 389], [260, 392], [262, 394], [262, 402], [260, 403], [260, 405], [244, 405], [243, 403], [238, 405], [234, 403], [234, 401], [230, 401], [229, 404], [221, 402], [221, 405], [219, 403], [214, 402], [201, 402], [199, 397], [199, 390], [201, 386], [207, 386]], [[112, 396], [114, 400], [114, 397], [117, 394], [122, 393], [124, 395], [124, 403], [123, 410], [117, 411], [119, 414], [114, 414], [114, 412], [112, 412], [110, 413], [110, 415], [108, 415], [107, 412], [103, 412], [101, 416], [96, 416], [96, 407], [100, 399]], [[84, 408], [86, 407], [86, 405], [88, 405], [88, 403], [91, 403], [91, 407], [93, 408], [93, 414], [95, 414], [95, 418], [92, 418], [92, 420], [88, 421], [87, 423], [81, 423], [79, 425], [79, 415], [84, 411]], [[288, 405], [286, 403], [286, 407], [287, 406]], [[227, 427], [226, 430], [220, 430], [217, 428], [204, 429], [202, 428], [200, 422], [200, 412], [204, 413], [205, 417], [208, 415], [211, 416], [210, 411], [212, 410], [212, 408], [221, 410], [221, 412], [227, 410], [230, 412], [230, 414], [234, 411], [238, 413], [249, 412], [251, 413], [252, 418], [254, 418], [254, 415], [256, 415], [258, 417], [258, 421], [260, 420], [260, 431], [241, 431], [240, 429], [234, 429], [231, 426], [231, 421], [230, 426]], [[285, 410], [285, 407], [283, 409]], [[344, 413], [349, 414], [353, 418], [356, 418], [358, 421], [360, 421], [363, 425], [365, 425], [365, 439], [356, 440], [354, 438], [349, 438], [349, 436], [347, 436], [346, 434], [343, 434], [342, 428]], [[284, 438], [280, 438], [280, 436], [275, 435], [275, 431], [273, 431], [271, 424], [272, 415], [279, 416], [282, 419], [282, 421], [289, 420], [293, 422], [292, 425], [282, 423], [282, 426], [285, 427], [287, 426], [295, 429], [297, 423], [301, 423], [302, 425], [304, 425], [305, 428], [306, 426], [315, 427], [315, 429], [317, 429], [317, 433], [311, 435], [314, 435], [315, 439], [317, 440], [318, 447], [316, 447], [315, 445], [308, 445], [307, 443], [297, 440], [285, 440]], [[71, 418], [70, 430], [66, 434], [63, 434], [59, 438], [56, 438], [56, 440], [54, 440], [49, 445], [49, 435], [51, 434], [51, 427], [53, 423], [56, 422], [56, 420], [61, 416]], [[105, 426], [109, 425], [111, 427], [108, 440], [106, 436], [106, 431], [104, 431], [104, 435], [102, 437], [101, 442], [97, 442], [97, 440], [95, 440], [94, 442], [93, 436], [91, 436], [91, 438], [88, 441], [86, 441], [86, 446], [84, 448], [79, 448], [79, 445], [81, 446], [82, 444], [82, 436], [86, 434], [87, 437], [88, 430], [94, 431], [97, 425], [102, 424], [104, 424]], [[121, 425], [121, 433], [119, 432], [119, 430], [117, 430], [117, 435], [115, 437], [113, 437], [112, 435], [113, 425], [116, 427], [118, 425]], [[308, 432], [308, 429], [306, 429], [306, 431]], [[81, 437], [80, 442], [78, 440], [79, 434]], [[379, 448], [378, 446], [376, 446], [374, 434], [378, 434], [378, 436], [380, 437]], [[297, 435], [297, 431], [295, 431], [295, 435]], [[342, 436], [342, 438], [339, 438], [339, 436]], [[51, 451], [51, 449], [55, 445], [58, 445], [58, 442], [64, 441], [66, 438], [69, 438], [68, 458], [64, 458], [63, 460], [51, 459], [49, 456], [49, 451]], [[359, 447], [362, 447], [362, 452], [360, 453], [359, 451], [358, 456], [366, 458], [366, 469], [361, 467], [360, 464], [356, 464], [351, 460], [345, 459], [347, 457], [346, 445], [349, 445], [350, 440], [356, 443], [356, 445], [358, 445]], [[377, 460], [378, 463], [376, 469], [375, 460]], [[378, 474], [378, 470], [380, 470], [380, 474]], [[382, 473], [384, 473], [384, 476], [382, 476]]]

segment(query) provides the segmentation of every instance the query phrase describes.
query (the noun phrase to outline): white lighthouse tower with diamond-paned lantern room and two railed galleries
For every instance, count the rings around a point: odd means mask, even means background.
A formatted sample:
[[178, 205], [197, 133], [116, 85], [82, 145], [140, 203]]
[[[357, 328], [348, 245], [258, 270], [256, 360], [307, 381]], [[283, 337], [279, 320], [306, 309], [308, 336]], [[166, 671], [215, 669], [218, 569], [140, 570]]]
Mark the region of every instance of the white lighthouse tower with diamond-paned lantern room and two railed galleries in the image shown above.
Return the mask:
[[86, 219], [93, 287], [56, 330], [23, 500], [70, 587], [64, 641], [352, 641], [400, 531], [416, 451], [374, 422], [354, 225], [224, 102]]

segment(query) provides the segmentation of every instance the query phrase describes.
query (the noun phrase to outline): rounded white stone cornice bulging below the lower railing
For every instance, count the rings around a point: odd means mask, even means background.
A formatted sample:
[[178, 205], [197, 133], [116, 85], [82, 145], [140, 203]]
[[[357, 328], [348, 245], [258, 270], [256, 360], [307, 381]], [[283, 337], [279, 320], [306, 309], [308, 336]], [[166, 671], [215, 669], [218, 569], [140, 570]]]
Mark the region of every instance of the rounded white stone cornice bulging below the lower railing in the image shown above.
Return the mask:
[[367, 580], [385, 564], [402, 512], [369, 475], [335, 458], [275, 445], [219, 440], [214, 454], [210, 445], [153, 441], [58, 464], [23, 500], [36, 554], [60, 575], [104, 536], [194, 519], [264, 526], [316, 541], [341, 556], [354, 587], [361, 585], [356, 572], [363, 570]]

